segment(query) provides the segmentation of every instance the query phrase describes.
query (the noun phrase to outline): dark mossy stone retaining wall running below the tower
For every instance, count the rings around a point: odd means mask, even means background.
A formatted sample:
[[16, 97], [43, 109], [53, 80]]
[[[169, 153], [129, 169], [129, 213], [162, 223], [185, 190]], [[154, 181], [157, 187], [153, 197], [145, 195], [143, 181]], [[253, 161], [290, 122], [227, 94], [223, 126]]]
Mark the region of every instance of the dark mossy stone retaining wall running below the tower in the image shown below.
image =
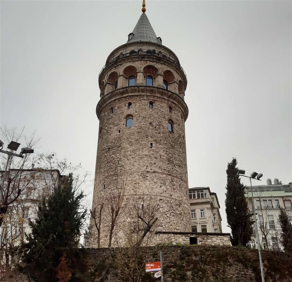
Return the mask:
[[[225, 246], [168, 246], [160, 250], [165, 282], [261, 282], [257, 250]], [[70, 281], [129, 281], [120, 275], [119, 268], [111, 264], [109, 252], [113, 255], [114, 251], [108, 248], [78, 249], [75, 274]], [[287, 264], [284, 255], [263, 251], [262, 257], [266, 282], [292, 281], [291, 264]], [[145, 262], [154, 261], [159, 261], [159, 249], [150, 247]], [[158, 281], [153, 277], [154, 273], [144, 271], [144, 262], [141, 266], [142, 282]], [[0, 281], [27, 282], [28, 279], [18, 273], [10, 275], [10, 278], [7, 275]]]

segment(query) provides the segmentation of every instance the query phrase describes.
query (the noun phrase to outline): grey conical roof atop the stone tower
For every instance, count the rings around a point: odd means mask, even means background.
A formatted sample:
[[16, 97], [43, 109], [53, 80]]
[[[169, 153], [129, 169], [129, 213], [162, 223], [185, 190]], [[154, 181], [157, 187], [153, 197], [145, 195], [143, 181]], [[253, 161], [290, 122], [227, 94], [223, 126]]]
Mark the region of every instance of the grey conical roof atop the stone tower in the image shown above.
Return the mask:
[[135, 41], [150, 41], [161, 44], [161, 41], [157, 39], [154, 29], [151, 26], [145, 13], [142, 13], [136, 26], [133, 29], [133, 32], [128, 36], [127, 43]]

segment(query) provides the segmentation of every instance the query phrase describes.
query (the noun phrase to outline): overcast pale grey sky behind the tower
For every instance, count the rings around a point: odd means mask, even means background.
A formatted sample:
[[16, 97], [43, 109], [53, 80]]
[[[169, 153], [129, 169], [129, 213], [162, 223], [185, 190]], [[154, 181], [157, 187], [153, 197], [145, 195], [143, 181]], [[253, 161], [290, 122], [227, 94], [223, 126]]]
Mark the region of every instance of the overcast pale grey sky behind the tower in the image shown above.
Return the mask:
[[[98, 74], [141, 8], [142, 0], [2, 0], [0, 126], [36, 130], [39, 152], [93, 172]], [[232, 157], [246, 174], [263, 173], [260, 184], [292, 181], [291, 1], [147, 0], [146, 9], [188, 78], [189, 187], [217, 193], [227, 232]]]

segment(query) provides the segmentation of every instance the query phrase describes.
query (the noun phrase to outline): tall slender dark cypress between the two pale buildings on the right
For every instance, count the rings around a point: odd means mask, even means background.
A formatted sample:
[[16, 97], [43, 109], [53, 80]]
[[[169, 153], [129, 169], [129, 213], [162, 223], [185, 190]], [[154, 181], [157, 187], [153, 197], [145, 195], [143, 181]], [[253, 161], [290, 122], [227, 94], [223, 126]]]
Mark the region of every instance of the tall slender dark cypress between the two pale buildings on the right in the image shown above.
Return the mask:
[[230, 241], [232, 246], [246, 246], [251, 239], [253, 232], [253, 220], [251, 218], [252, 213], [248, 210], [244, 196], [244, 185], [240, 183], [240, 177], [236, 165], [236, 158], [233, 158], [227, 165], [225, 211], [227, 215], [227, 223], [231, 228]]

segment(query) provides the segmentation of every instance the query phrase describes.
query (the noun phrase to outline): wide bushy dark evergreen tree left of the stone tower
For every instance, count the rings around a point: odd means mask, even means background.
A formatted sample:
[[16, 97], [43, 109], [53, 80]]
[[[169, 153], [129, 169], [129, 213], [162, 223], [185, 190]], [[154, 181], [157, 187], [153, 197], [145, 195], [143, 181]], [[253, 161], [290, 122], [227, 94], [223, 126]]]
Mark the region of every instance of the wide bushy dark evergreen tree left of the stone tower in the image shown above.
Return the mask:
[[32, 232], [23, 246], [23, 261], [34, 281], [59, 281], [57, 277], [64, 276], [62, 269], [69, 272], [68, 279], [71, 277], [71, 258], [86, 217], [86, 210], [81, 211], [83, 198], [69, 174], [39, 204], [36, 220], [29, 222]]

